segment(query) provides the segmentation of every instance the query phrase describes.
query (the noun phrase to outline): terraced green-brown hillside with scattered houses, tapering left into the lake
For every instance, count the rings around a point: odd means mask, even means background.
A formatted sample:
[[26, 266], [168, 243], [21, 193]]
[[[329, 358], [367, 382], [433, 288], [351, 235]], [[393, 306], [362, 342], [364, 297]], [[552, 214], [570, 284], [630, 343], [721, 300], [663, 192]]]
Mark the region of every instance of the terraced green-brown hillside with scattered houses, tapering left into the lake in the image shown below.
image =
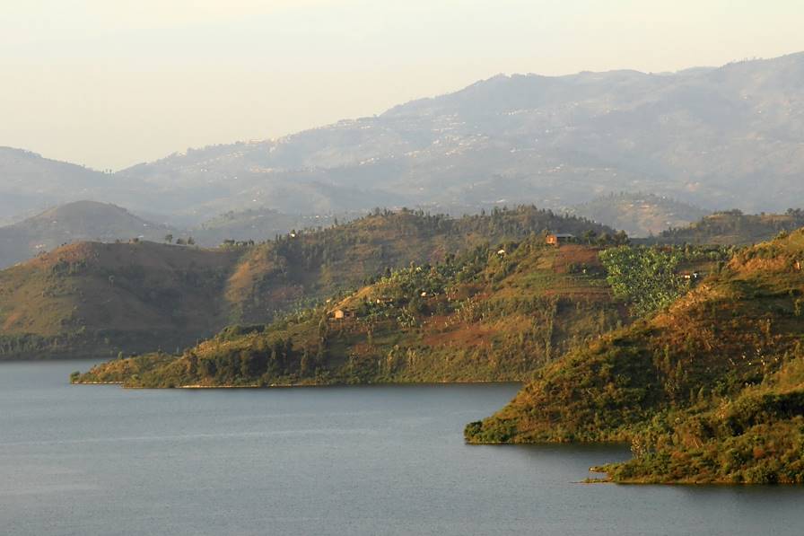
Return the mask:
[[[172, 360], [118, 359], [78, 382], [130, 387], [522, 380], [627, 319], [599, 248], [541, 237], [387, 271], [339, 301], [232, 327]], [[344, 312], [344, 318], [336, 318]], [[149, 361], [150, 360], [150, 361]]]

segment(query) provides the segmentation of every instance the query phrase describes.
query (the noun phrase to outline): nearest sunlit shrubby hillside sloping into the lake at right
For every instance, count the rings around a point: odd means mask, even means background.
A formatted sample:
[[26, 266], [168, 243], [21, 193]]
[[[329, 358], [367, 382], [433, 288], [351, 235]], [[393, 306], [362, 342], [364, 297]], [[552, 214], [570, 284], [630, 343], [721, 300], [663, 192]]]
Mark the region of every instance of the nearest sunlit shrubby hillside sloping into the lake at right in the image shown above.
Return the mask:
[[802, 482], [804, 231], [546, 366], [470, 443], [630, 441], [616, 481]]

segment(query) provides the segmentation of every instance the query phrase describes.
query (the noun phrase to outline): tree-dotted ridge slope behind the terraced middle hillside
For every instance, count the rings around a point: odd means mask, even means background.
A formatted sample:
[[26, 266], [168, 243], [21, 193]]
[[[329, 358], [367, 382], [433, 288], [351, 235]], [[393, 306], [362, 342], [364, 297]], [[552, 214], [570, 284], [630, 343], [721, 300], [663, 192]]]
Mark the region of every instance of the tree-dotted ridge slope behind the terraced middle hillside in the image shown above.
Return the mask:
[[360, 286], [385, 268], [435, 263], [477, 245], [517, 240], [532, 233], [572, 233], [602, 240], [625, 235], [575, 216], [533, 206], [450, 218], [421, 211], [374, 214], [315, 233], [296, 233], [245, 251], [232, 273], [226, 299], [232, 320], [263, 322], [301, 299], [321, 299]]

